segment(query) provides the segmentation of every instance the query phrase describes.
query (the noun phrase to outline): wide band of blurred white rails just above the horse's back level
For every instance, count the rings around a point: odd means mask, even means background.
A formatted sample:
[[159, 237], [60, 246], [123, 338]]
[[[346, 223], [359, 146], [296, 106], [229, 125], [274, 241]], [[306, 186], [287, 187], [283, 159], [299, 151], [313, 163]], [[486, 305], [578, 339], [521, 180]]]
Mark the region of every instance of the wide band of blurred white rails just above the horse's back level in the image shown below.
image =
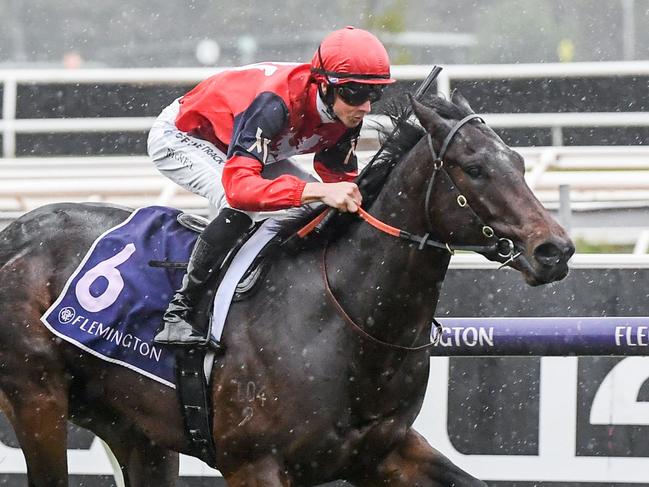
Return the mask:
[[[649, 201], [649, 147], [517, 150], [527, 163], [528, 184], [546, 204], [559, 201], [562, 185], [570, 186], [574, 202]], [[359, 152], [361, 163], [372, 154]], [[312, 169], [310, 156], [296, 159], [305, 170]], [[0, 159], [0, 211], [26, 211], [43, 197], [119, 199], [127, 204], [146, 200], [182, 206], [180, 198], [191, 207], [204, 205], [162, 177], [144, 156]]]

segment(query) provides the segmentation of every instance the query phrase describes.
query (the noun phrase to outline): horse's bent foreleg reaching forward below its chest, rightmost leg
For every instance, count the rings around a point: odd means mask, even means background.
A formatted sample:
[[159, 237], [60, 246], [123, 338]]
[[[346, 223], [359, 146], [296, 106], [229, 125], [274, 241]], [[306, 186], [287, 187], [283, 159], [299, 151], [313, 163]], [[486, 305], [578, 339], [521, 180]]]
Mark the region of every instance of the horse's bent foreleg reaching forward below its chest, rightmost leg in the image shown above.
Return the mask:
[[487, 487], [431, 447], [413, 429], [378, 466], [350, 480], [359, 487]]

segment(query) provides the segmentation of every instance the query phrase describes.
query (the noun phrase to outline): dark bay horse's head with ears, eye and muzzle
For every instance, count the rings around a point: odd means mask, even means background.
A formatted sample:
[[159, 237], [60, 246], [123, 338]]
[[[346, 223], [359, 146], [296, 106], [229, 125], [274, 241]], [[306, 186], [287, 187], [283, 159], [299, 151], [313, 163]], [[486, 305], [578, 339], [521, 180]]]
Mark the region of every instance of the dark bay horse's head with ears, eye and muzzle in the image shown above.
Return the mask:
[[419, 148], [429, 159], [426, 165], [441, 166], [433, 170], [426, 205], [438, 236], [458, 245], [491, 242], [481, 253], [509, 261], [530, 285], [563, 279], [575, 248], [525, 182], [523, 158], [479, 117], [471, 117], [473, 110], [459, 93], [452, 102], [436, 97], [431, 107], [412, 104], [430, 134], [426, 148]]

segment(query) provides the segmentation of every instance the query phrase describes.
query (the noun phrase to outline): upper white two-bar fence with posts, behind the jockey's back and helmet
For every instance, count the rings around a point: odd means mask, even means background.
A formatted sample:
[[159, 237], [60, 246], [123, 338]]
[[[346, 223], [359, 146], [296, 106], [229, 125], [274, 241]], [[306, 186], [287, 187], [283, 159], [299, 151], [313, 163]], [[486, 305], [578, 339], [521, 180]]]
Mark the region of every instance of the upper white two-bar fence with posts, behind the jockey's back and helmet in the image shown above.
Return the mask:
[[[3, 139], [3, 156], [14, 157], [16, 134], [61, 132], [114, 132], [147, 130], [152, 122], [147, 117], [83, 118], [83, 119], [16, 119], [18, 84], [34, 83], [124, 83], [124, 84], [188, 84], [197, 83], [225, 68], [183, 69], [85, 69], [85, 70], [7, 70], [0, 71], [3, 84], [3, 109], [0, 132]], [[431, 66], [395, 66], [394, 76], [401, 80], [423, 79]], [[516, 64], [516, 65], [455, 65], [446, 66], [438, 78], [438, 91], [447, 94], [451, 83], [461, 79], [512, 79], [512, 78], [570, 78], [601, 76], [649, 75], [649, 62], [610, 62], [572, 64]], [[487, 122], [494, 127], [549, 127], [553, 140], [560, 144], [564, 127], [596, 126], [649, 126], [649, 114], [625, 113], [521, 113], [486, 114]], [[366, 131], [365, 136], [371, 137]]]

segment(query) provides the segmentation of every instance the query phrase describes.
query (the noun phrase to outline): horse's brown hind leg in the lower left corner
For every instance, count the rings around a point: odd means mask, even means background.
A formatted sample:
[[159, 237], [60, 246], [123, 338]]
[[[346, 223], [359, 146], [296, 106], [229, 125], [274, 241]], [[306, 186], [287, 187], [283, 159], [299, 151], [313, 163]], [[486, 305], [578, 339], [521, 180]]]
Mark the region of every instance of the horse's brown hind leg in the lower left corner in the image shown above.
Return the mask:
[[29, 485], [67, 486], [67, 391], [52, 382], [46, 390], [25, 386], [10, 400], [9, 416], [25, 455]]

